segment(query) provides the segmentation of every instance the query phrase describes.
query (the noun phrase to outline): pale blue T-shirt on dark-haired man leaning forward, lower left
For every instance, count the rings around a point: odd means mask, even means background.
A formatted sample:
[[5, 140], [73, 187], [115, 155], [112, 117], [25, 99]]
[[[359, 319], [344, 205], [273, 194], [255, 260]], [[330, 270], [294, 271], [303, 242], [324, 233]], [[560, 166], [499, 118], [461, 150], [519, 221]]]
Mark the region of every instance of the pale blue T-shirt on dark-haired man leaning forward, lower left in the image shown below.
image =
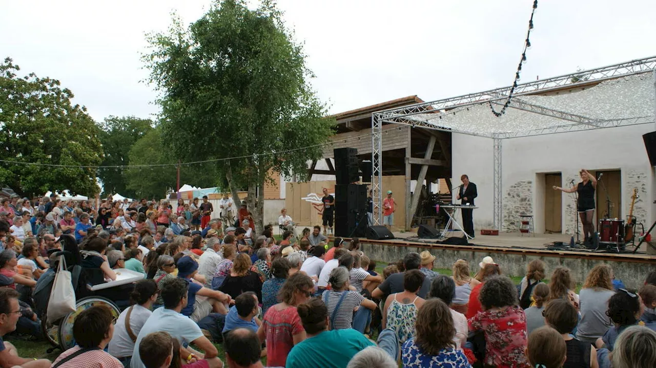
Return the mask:
[[[132, 320], [132, 316], [130, 316], [130, 320]], [[144, 323], [143, 327], [141, 327], [141, 331], [139, 331], [136, 337], [134, 350], [132, 352], [132, 361], [130, 363], [132, 368], [146, 368], [139, 357], [138, 346], [146, 335], [157, 331], [168, 332], [171, 337], [180, 342], [180, 345], [189, 344], [190, 342], [203, 337], [201, 327], [198, 327], [191, 318], [184, 316], [173, 309], [167, 309], [164, 307], [157, 308], [155, 309], [155, 312], [150, 315], [148, 321]]]

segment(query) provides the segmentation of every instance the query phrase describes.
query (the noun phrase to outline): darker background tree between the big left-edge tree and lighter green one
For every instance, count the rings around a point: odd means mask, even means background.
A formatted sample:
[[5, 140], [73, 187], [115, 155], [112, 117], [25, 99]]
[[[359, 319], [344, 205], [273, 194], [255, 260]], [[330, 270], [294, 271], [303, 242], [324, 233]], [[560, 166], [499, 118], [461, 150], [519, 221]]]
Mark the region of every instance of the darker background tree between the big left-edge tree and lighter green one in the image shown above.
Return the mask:
[[[153, 130], [153, 121], [136, 117], [108, 117], [98, 124], [100, 142], [104, 156], [100, 166], [129, 165], [128, 153], [134, 143]], [[98, 179], [102, 181], [103, 196], [109, 193], [120, 193], [134, 198], [136, 193], [127, 189], [123, 170], [115, 168], [99, 168]]]

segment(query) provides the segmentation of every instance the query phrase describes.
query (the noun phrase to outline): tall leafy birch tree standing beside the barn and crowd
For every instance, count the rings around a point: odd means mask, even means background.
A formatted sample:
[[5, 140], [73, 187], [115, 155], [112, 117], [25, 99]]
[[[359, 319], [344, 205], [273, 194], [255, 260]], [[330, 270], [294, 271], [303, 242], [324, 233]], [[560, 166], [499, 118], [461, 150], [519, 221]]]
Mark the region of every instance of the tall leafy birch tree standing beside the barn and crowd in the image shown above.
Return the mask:
[[281, 12], [270, 1], [255, 10], [245, 1], [217, 1], [188, 28], [174, 18], [169, 31], [148, 41], [143, 59], [161, 92], [161, 126], [171, 150], [186, 160], [232, 158], [216, 167], [233, 194], [248, 188], [262, 229], [269, 173], [305, 178], [307, 160], [321, 157], [334, 124], [324, 118], [302, 47]]

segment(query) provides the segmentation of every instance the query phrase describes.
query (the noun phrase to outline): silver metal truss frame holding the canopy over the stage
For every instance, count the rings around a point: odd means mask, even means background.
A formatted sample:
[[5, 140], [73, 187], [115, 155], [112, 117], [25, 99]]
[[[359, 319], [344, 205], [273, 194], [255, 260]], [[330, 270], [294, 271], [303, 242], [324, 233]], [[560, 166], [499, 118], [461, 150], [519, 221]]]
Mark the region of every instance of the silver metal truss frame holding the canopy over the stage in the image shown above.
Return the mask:
[[[494, 90], [487, 90], [485, 92], [478, 92], [474, 94], [467, 94], [453, 98], [446, 98], [443, 100], [429, 101], [423, 103], [415, 103], [398, 107], [396, 109], [388, 109], [384, 111], [377, 111], [371, 115], [371, 162], [372, 162], [372, 187], [373, 189], [373, 202], [374, 202], [374, 223], [380, 225], [382, 220], [382, 124], [392, 123], [409, 126], [417, 126], [431, 130], [441, 130], [444, 132], [461, 133], [470, 136], [480, 136], [493, 139], [494, 151], [494, 227], [501, 230], [502, 224], [502, 139], [521, 138], [528, 136], [540, 136], [544, 134], [557, 134], [564, 132], [576, 132], [581, 130], [613, 128], [617, 126], [629, 126], [637, 124], [648, 124], [654, 122], [655, 117], [631, 117], [626, 119], [613, 119], [613, 120], [595, 120], [590, 117], [584, 117], [566, 111], [558, 111], [541, 105], [528, 103], [527, 101], [518, 98], [519, 96], [538, 94], [549, 92], [551, 90], [559, 90], [568, 85], [583, 86], [588, 83], [599, 83], [608, 79], [616, 79], [619, 77], [627, 77], [639, 73], [646, 73], [653, 71], [656, 81], [656, 56], [651, 58], [644, 58], [640, 60], [632, 60], [621, 64], [608, 65], [596, 69], [585, 71], [577, 71], [577, 73], [560, 75], [558, 77], [543, 79], [530, 83], [519, 84], [514, 91], [514, 97], [509, 105], [513, 109], [528, 111], [531, 113], [545, 115], [558, 120], [565, 120], [571, 124], [555, 124], [544, 128], [533, 128], [527, 130], [518, 130], [515, 132], [501, 132], [485, 134], [482, 132], [472, 132], [449, 128], [448, 126], [440, 126], [439, 120], [445, 115], [458, 113], [470, 106], [481, 105], [484, 103], [491, 103], [494, 105], [502, 105], [503, 100], [508, 98], [511, 86], [504, 88], [496, 88]], [[655, 82], [656, 85], [656, 82]], [[656, 107], [655, 107], [656, 109]], [[655, 112], [656, 114], [656, 112]]]

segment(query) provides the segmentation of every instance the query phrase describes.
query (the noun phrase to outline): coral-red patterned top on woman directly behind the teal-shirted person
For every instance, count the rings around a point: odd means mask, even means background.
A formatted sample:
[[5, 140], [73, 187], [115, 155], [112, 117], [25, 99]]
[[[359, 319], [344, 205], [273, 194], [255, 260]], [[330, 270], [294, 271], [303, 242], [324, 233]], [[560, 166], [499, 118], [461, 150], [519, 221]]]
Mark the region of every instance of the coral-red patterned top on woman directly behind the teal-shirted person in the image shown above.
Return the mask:
[[266, 333], [266, 365], [285, 367], [287, 354], [294, 347], [294, 335], [305, 331], [295, 306], [276, 310], [272, 306], [266, 310], [262, 321]]

